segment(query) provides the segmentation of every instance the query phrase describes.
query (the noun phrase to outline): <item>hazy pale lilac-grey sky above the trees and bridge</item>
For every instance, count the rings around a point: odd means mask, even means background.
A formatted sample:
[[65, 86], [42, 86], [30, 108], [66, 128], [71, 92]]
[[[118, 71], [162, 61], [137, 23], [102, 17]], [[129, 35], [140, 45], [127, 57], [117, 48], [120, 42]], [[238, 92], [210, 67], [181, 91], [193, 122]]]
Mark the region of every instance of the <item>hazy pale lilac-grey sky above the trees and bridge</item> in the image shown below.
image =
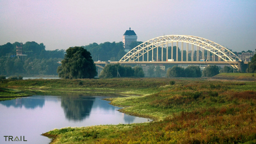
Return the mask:
[[0, 0], [0, 45], [35, 41], [47, 50], [181, 34], [233, 51], [255, 51], [256, 0]]

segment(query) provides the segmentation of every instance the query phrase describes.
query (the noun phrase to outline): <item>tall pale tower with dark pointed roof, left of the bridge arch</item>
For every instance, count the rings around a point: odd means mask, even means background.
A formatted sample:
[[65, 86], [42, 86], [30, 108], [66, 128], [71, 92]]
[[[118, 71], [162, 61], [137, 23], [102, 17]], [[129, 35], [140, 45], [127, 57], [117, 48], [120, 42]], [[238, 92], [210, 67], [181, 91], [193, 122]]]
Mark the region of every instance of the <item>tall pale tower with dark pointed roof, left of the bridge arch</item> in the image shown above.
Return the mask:
[[131, 50], [130, 44], [136, 41], [136, 33], [133, 30], [131, 30], [131, 28], [129, 28], [129, 30], [125, 32], [124, 36], [122, 36], [122, 42], [124, 43], [125, 52], [129, 52]]

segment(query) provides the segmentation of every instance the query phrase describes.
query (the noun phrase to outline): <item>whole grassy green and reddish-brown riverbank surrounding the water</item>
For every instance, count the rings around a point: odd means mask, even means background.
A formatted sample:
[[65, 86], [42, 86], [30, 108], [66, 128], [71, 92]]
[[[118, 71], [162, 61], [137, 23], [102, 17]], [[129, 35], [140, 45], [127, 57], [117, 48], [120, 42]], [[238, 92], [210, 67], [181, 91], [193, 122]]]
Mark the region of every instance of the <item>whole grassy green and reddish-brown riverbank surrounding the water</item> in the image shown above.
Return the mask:
[[255, 143], [256, 83], [204, 78], [23, 80], [0, 87], [31, 91], [110, 91], [122, 112], [154, 122], [62, 128], [44, 133], [52, 143]]

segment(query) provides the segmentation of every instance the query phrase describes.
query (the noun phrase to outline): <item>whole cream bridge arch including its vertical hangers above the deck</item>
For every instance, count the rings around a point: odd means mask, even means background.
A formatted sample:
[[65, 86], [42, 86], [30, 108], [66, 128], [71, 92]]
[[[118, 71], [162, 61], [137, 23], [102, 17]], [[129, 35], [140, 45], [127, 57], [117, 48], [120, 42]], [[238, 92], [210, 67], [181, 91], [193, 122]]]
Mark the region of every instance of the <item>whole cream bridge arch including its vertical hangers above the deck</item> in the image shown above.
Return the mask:
[[[176, 49], [179, 48], [179, 43], [181, 44], [181, 52], [176, 51], [176, 54], [174, 53], [175, 42]], [[186, 43], [185, 51], [184, 43]], [[169, 45], [171, 45], [171, 52], [168, 52], [168, 49], [170, 48]], [[161, 48], [161, 57], [159, 57], [159, 47]], [[196, 49], [194, 49], [194, 47], [196, 47]], [[156, 49], [156, 56], [154, 56], [154, 49]], [[164, 49], [166, 56], [163, 54]], [[196, 50], [196, 53], [194, 50]], [[149, 56], [150, 53], [151, 56]], [[179, 53], [181, 56], [180, 58]], [[200, 53], [201, 59], [199, 59]], [[188, 35], [168, 35], [152, 38], [144, 43], [139, 44], [135, 48], [131, 49], [128, 53], [126, 53], [119, 62], [150, 61], [150, 59], [151, 61], [154, 61], [154, 58], [156, 61], [163, 61], [165, 57], [166, 61], [168, 61], [170, 58], [171, 63], [171, 61], [189, 61], [189, 56], [191, 57], [190, 61], [224, 61], [236, 69], [238, 69], [238, 63], [236, 61], [242, 61], [228, 48], [210, 41], [209, 39]]]

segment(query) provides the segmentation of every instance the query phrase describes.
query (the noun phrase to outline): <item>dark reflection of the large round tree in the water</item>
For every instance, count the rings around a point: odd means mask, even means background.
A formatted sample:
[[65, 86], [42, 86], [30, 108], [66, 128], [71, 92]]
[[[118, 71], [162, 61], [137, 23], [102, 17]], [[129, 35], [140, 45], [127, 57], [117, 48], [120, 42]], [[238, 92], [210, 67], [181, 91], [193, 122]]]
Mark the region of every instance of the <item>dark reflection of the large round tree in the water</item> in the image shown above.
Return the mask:
[[81, 100], [78, 97], [61, 97], [61, 107], [63, 107], [68, 120], [81, 121], [90, 115], [95, 97], [88, 97]]

